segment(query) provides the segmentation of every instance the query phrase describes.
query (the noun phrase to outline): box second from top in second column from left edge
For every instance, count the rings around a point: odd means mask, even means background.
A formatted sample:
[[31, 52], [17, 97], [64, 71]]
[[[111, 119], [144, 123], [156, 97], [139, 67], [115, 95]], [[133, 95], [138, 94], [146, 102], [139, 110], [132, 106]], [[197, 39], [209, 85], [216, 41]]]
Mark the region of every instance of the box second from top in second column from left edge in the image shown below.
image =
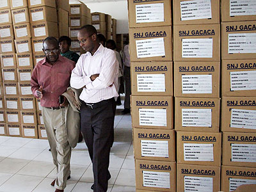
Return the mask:
[[29, 22], [28, 8], [20, 8], [18, 10], [12, 10], [12, 22], [13, 26], [22, 23]]

